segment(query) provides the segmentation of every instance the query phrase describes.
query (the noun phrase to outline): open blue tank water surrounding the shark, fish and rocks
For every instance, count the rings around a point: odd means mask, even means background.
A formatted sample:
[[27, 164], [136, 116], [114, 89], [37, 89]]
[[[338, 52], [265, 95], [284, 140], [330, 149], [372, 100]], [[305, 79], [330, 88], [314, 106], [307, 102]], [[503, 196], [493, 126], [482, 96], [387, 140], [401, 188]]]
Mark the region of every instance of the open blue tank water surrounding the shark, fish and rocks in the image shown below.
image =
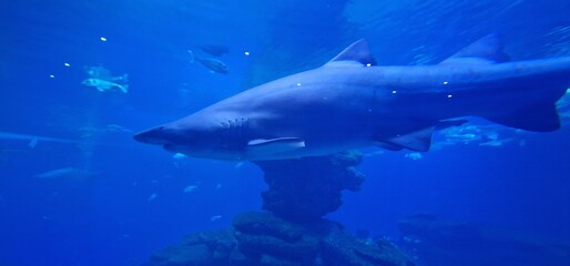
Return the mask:
[[[0, 265], [140, 265], [184, 234], [261, 208], [266, 186], [255, 165], [173, 158], [134, 142], [140, 130], [318, 66], [359, 38], [380, 64], [437, 63], [492, 32], [513, 60], [570, 55], [569, 8], [568, 0], [3, 1]], [[230, 49], [220, 58], [228, 74], [190, 63], [186, 50], [207, 43]], [[129, 93], [82, 86], [85, 65], [129, 73]], [[396, 238], [398, 219], [430, 213], [568, 242], [568, 120], [542, 134], [485, 127], [477, 134], [499, 132], [501, 145], [459, 142], [421, 157], [366, 150], [362, 191], [346, 192], [328, 217]], [[62, 168], [82, 172], [37, 177]]]

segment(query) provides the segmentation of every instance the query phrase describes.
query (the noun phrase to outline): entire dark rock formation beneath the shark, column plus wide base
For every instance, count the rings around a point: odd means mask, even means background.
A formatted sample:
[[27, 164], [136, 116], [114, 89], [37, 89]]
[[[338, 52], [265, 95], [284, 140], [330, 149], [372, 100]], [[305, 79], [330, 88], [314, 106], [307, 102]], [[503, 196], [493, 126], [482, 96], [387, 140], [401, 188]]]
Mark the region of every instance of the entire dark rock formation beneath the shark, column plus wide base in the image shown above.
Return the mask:
[[358, 191], [364, 176], [357, 152], [324, 157], [256, 162], [269, 188], [267, 212], [242, 213], [233, 228], [199, 232], [151, 256], [147, 266], [410, 266], [385, 239], [362, 239], [324, 219], [342, 205], [344, 190]]

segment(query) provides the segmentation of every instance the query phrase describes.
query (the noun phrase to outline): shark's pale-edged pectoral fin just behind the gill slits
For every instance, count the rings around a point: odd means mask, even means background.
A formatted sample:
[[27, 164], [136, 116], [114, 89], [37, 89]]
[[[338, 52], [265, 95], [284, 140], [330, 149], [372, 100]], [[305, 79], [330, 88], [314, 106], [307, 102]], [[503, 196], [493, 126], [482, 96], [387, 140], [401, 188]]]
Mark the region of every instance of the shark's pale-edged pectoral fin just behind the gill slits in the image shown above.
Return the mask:
[[298, 137], [277, 137], [271, 140], [253, 140], [247, 143], [247, 153], [276, 154], [294, 151], [305, 146], [305, 141]]

